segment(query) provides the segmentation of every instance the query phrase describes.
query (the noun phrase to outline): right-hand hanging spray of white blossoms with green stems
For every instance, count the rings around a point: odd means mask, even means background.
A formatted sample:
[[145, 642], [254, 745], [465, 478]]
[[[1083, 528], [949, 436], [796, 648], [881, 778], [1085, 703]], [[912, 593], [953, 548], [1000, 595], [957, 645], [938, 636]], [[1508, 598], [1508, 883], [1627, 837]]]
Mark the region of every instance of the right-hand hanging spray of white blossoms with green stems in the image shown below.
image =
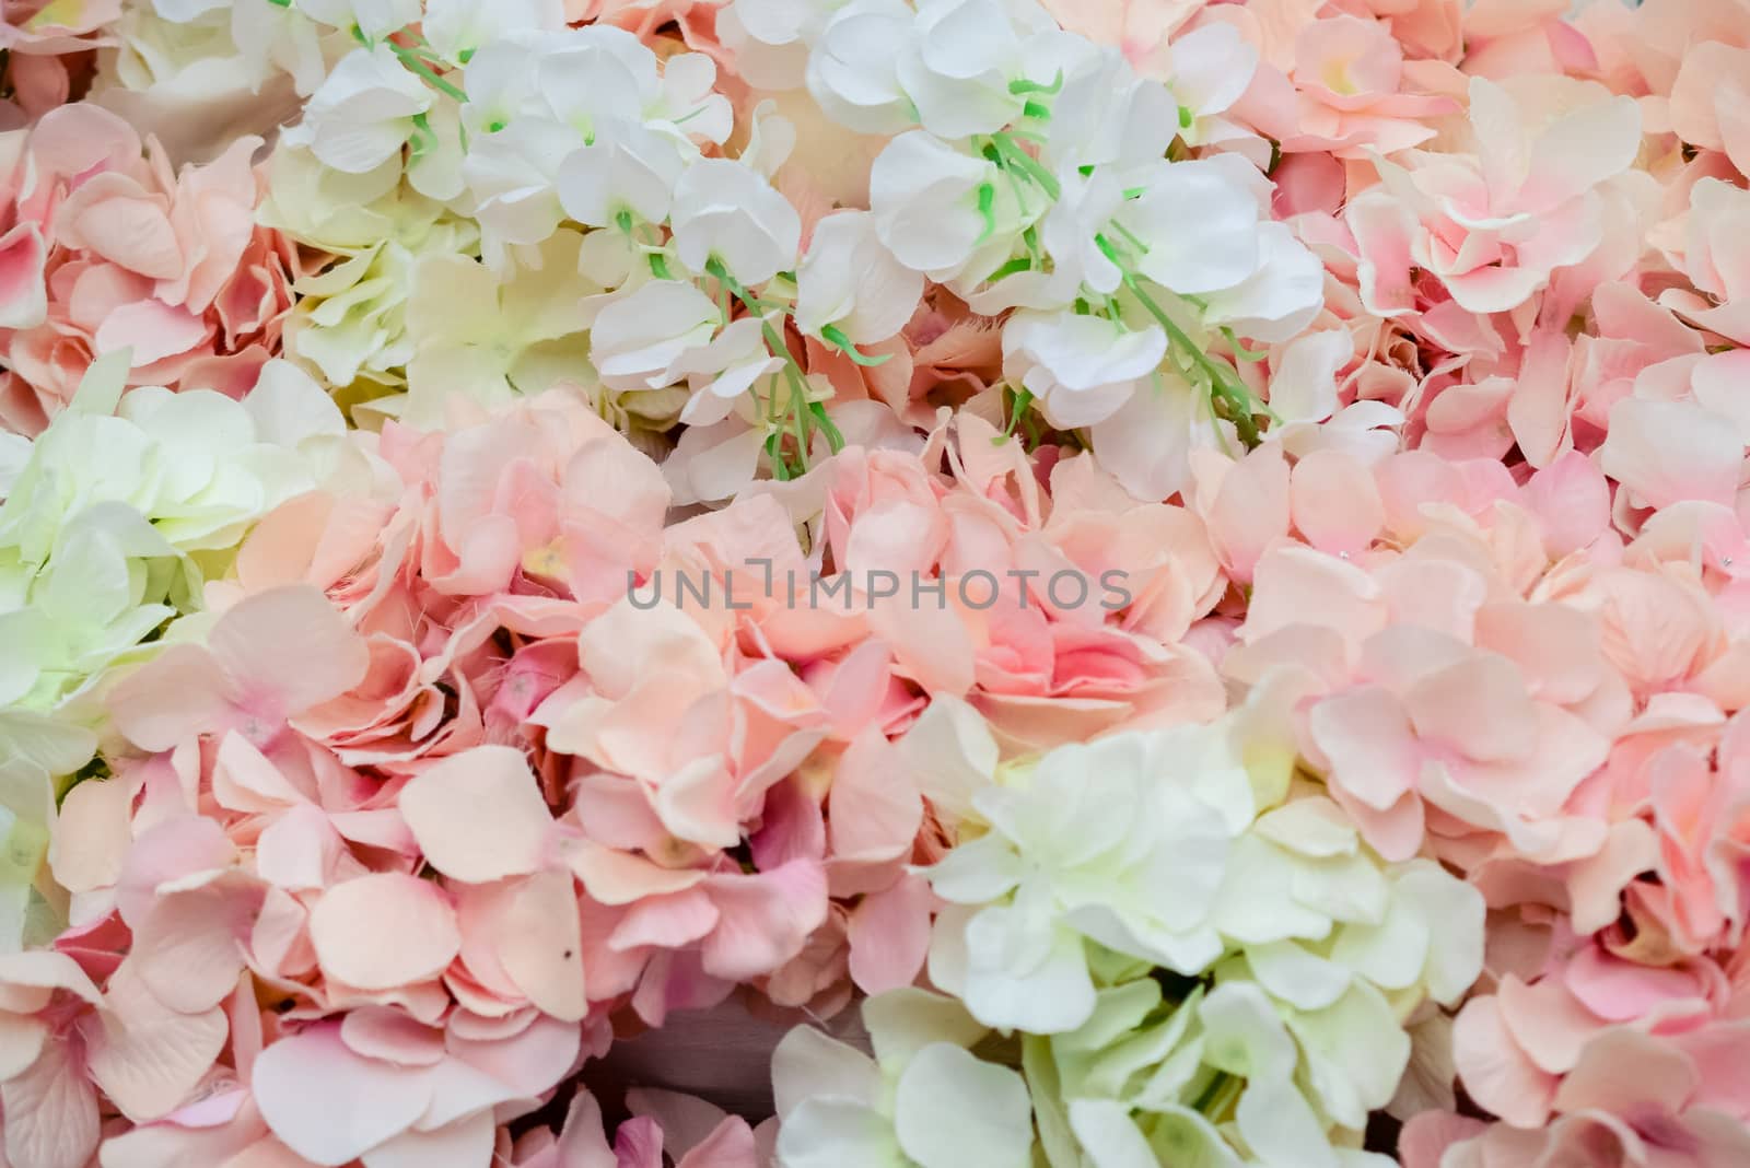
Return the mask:
[[[1134, 493], [1162, 498], [1185, 481], [1185, 388], [1246, 400], [1234, 371], [1204, 357], [1211, 341], [1286, 341], [1318, 313], [1321, 268], [1270, 222], [1258, 170], [1239, 154], [1167, 157], [1232, 103], [1232, 86], [1188, 70], [1197, 108], [1181, 107], [1034, 0], [737, 0], [730, 12], [774, 54], [807, 44], [803, 80], [828, 117], [892, 136], [870, 175], [877, 238], [975, 311], [1026, 309], [1008, 325], [1024, 336], [1004, 337], [1004, 372], [1046, 421], [1166, 428], [1153, 453], [1110, 441]], [[1230, 37], [1206, 40], [1255, 65]]]

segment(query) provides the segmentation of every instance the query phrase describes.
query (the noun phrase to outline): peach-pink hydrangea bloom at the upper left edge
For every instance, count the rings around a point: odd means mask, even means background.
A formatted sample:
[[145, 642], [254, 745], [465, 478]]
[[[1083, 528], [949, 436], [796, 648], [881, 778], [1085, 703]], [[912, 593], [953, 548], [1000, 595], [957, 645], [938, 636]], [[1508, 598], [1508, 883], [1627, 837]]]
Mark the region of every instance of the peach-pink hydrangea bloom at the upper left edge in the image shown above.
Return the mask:
[[89, 103], [51, 110], [0, 159], [0, 392], [7, 428], [47, 425], [96, 353], [130, 385], [247, 392], [278, 344], [296, 268], [254, 222], [256, 138], [172, 173], [156, 143]]

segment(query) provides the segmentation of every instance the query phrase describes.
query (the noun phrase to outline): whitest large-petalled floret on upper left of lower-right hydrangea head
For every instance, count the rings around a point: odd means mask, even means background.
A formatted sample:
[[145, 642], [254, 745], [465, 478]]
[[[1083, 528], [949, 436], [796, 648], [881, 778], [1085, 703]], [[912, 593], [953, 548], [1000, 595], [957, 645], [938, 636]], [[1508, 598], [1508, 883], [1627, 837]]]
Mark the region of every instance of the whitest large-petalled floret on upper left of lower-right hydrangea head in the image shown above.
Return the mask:
[[[1115, 734], [973, 794], [990, 832], [929, 869], [936, 895], [968, 909], [938, 918], [931, 979], [989, 1026], [1057, 1033], [1094, 1011], [1085, 941], [1185, 974], [1206, 969], [1222, 953], [1209, 906], [1232, 834], [1220, 804], [1237, 790], [1213, 804], [1174, 776], [1192, 778], [1222, 740], [1220, 727]], [[1232, 761], [1199, 782], [1223, 771], [1244, 789]]]

